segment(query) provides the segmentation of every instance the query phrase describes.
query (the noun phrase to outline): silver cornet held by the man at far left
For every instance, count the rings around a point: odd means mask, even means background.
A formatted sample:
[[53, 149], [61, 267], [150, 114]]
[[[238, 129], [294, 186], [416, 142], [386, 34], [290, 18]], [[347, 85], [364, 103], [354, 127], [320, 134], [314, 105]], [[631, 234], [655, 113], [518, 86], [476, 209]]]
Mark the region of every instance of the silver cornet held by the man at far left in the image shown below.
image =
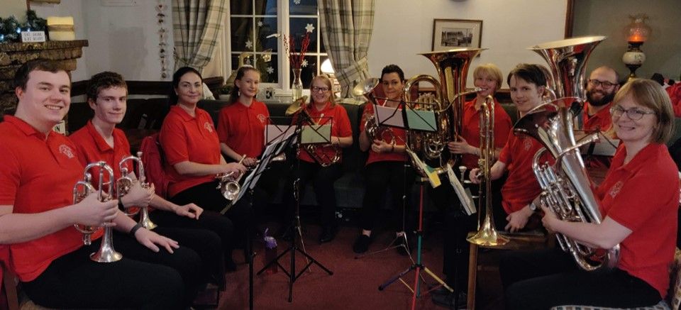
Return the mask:
[[[90, 170], [93, 170], [95, 167], [99, 168], [98, 190], [94, 189], [94, 186], [92, 186], [92, 174], [90, 173]], [[106, 181], [105, 179], [106, 177], [104, 175], [105, 173], [109, 177], [108, 181]], [[76, 184], [73, 187], [74, 204], [82, 201], [83, 199], [85, 199], [85, 197], [87, 197], [87, 195], [92, 194], [95, 191], [97, 191], [97, 199], [99, 199], [99, 201], [109, 201], [111, 199], [111, 194], [114, 192], [114, 183], [112, 181], [113, 179], [114, 170], [111, 170], [111, 167], [109, 167], [109, 165], [106, 165], [106, 162], [99, 161], [87, 165], [83, 172], [83, 180], [76, 182]], [[104, 192], [104, 186], [106, 186], [106, 184], [109, 185], [108, 192]], [[74, 227], [77, 229], [77, 231], [83, 234], [83, 243], [85, 245], [92, 244], [91, 240], [92, 233], [99, 229], [99, 227], [86, 226], [81, 224], [74, 224]], [[123, 255], [114, 250], [111, 227], [110, 226], [104, 227], [104, 236], [102, 236], [99, 250], [96, 253], [92, 253], [90, 255], [90, 259], [94, 260], [95, 262], [116, 262], [118, 260], [121, 260], [121, 258], [123, 258]]]

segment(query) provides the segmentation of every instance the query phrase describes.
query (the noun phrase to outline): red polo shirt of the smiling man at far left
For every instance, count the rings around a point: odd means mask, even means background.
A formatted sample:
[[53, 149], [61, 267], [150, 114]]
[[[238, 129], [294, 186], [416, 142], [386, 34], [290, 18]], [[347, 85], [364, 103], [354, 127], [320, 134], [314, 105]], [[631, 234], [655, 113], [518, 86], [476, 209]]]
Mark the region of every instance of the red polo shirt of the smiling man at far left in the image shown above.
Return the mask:
[[[59, 133], [47, 136], [13, 116], [0, 123], [0, 205], [13, 213], [37, 214], [73, 204], [73, 186], [82, 179], [76, 148]], [[92, 240], [101, 236], [101, 230]], [[83, 245], [73, 226], [30, 241], [9, 245], [11, 265], [23, 282], [40, 275], [52, 260]]]

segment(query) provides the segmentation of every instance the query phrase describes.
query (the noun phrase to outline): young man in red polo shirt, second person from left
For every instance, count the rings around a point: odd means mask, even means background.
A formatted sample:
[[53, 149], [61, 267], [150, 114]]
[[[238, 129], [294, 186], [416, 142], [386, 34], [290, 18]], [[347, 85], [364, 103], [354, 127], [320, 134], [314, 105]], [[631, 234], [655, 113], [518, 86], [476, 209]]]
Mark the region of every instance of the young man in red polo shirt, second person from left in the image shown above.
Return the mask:
[[[121, 74], [101, 72], [89, 80], [86, 95], [94, 117], [69, 138], [76, 145], [77, 156], [83, 165], [104, 160], [114, 170], [115, 179], [119, 179], [121, 168], [118, 163], [131, 155], [125, 133], [116, 128], [126, 115], [128, 86]], [[131, 162], [127, 164], [128, 171], [133, 172]], [[134, 173], [132, 177], [136, 179]], [[140, 188], [133, 187], [131, 190]], [[156, 194], [153, 194], [150, 206], [157, 209], [150, 213], [151, 221], [159, 225], [154, 231], [195, 250], [204, 262], [206, 279], [224, 287], [225, 267], [236, 269], [231, 255], [228, 262], [222, 259], [223, 248], [231, 248], [233, 225], [229, 218], [204, 213], [204, 209], [196, 204], [179, 206]]]

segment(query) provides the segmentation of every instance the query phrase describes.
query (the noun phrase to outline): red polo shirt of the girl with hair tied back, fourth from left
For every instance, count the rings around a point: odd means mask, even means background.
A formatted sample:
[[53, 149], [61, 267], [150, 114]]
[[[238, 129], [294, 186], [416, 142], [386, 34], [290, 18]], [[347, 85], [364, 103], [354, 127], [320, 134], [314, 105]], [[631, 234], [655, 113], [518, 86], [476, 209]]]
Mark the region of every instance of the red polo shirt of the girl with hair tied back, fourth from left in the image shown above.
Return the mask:
[[259, 157], [265, 148], [265, 126], [270, 112], [260, 101], [250, 106], [235, 102], [220, 110], [218, 137], [237, 154]]

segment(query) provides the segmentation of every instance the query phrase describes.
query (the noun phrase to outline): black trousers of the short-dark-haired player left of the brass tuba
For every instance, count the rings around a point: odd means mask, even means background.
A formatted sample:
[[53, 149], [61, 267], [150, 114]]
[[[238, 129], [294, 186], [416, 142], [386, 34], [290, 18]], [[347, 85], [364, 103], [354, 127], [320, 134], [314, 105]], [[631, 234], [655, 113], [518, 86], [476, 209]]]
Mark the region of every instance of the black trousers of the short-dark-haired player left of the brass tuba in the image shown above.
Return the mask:
[[393, 216], [387, 221], [388, 226], [394, 231], [410, 231], [412, 225], [409, 203], [411, 202], [411, 184], [414, 184], [414, 170], [409, 166], [405, 167], [405, 162], [372, 162], [365, 167], [365, 184], [360, 228], [367, 231], [374, 229], [377, 214], [390, 189], [394, 206]]

